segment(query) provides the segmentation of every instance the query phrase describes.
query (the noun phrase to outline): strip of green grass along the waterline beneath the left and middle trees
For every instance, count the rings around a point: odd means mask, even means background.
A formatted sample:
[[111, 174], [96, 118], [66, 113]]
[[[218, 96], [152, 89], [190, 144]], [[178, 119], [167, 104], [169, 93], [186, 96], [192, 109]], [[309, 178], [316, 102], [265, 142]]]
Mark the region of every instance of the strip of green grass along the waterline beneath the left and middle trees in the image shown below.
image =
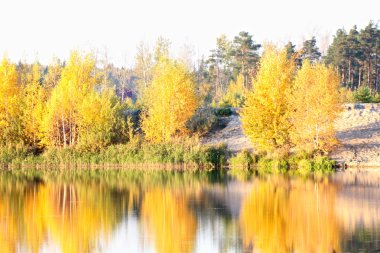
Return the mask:
[[39, 155], [21, 147], [0, 148], [0, 164], [3, 168], [140, 166], [213, 169], [224, 166], [226, 157], [226, 145], [202, 146], [186, 141], [165, 144], [136, 141], [111, 145], [97, 152], [51, 148]]

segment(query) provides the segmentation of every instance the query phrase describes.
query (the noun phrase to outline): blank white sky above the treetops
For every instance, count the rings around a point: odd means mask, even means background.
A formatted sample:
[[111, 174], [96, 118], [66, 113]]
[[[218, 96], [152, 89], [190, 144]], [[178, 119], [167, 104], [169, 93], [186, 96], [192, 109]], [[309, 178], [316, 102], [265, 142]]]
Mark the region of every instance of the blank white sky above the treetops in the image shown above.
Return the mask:
[[47, 64], [72, 49], [106, 49], [111, 62], [130, 67], [137, 44], [158, 36], [177, 54], [190, 45], [197, 58], [221, 34], [298, 45], [316, 35], [324, 47], [338, 28], [370, 20], [380, 20], [380, 0], [0, 0], [0, 53]]

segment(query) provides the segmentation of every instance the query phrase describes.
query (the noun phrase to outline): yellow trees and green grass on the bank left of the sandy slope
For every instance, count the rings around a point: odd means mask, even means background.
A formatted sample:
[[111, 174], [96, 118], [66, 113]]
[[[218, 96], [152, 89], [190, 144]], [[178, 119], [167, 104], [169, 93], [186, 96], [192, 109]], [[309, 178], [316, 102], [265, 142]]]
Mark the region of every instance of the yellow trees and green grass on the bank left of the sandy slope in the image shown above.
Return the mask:
[[[23, 73], [6, 58], [0, 70], [3, 166], [186, 164], [211, 168], [225, 163], [225, 146], [202, 146], [196, 129], [187, 130], [188, 122], [197, 116], [198, 94], [181, 62], [160, 58], [149, 88], [144, 88], [146, 102], [137, 116], [128, 111], [133, 109], [130, 101], [120, 101], [107, 85], [91, 54], [73, 52], [53, 87], [41, 83], [38, 64], [24, 81]], [[42, 82], [50, 80], [50, 73]]]

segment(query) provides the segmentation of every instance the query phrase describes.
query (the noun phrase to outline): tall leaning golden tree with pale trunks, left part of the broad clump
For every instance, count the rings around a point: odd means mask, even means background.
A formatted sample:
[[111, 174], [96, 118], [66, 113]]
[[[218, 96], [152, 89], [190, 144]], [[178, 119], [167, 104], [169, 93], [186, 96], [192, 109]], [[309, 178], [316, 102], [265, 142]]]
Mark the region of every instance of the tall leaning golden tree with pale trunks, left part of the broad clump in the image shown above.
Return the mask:
[[53, 89], [44, 118], [45, 143], [48, 146], [74, 145], [78, 139], [78, 105], [93, 92], [96, 84], [95, 60], [73, 52]]

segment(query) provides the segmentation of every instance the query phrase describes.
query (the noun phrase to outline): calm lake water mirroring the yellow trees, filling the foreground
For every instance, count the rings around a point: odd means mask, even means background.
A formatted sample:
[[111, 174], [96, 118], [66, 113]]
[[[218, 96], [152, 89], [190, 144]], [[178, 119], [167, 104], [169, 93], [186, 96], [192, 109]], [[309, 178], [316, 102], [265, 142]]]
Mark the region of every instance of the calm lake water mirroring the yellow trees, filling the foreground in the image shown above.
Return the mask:
[[376, 171], [0, 173], [0, 252], [378, 250]]

